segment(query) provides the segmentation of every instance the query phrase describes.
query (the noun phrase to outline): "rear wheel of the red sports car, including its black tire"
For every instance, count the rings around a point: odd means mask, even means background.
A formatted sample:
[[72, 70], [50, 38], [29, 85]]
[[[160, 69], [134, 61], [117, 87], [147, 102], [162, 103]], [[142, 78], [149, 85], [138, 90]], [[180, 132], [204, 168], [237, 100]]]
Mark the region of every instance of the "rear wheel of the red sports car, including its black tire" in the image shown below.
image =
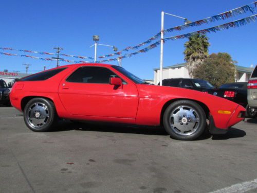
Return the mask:
[[45, 98], [28, 101], [23, 117], [27, 127], [36, 132], [50, 131], [58, 120], [53, 102]]

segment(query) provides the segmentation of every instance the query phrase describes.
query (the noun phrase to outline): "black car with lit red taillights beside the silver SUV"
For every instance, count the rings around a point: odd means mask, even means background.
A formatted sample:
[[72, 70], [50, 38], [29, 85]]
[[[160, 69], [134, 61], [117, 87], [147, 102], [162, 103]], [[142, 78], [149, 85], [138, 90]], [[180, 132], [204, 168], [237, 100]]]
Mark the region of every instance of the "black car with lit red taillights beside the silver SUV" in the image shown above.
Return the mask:
[[206, 90], [209, 94], [226, 98], [246, 108], [247, 117], [256, 117], [257, 109], [249, 108], [247, 103], [247, 83], [248, 82], [233, 82], [223, 84], [218, 89]]

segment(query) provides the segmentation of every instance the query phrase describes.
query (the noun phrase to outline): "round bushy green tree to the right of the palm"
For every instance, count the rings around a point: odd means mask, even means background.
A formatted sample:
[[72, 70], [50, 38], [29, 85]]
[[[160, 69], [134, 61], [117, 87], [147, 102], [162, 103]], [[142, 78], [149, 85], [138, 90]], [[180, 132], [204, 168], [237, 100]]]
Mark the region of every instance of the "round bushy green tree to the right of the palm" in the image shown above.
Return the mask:
[[235, 61], [227, 53], [211, 54], [194, 69], [193, 75], [194, 78], [207, 80], [218, 87], [235, 81], [236, 68], [234, 63]]

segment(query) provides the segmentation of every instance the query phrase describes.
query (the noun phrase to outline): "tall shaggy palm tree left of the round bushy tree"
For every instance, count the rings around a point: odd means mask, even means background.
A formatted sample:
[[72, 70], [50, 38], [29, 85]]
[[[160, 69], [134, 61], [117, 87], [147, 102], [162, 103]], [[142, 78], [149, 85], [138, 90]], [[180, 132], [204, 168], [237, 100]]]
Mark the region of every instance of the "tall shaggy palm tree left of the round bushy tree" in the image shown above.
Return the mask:
[[185, 61], [187, 62], [190, 78], [193, 77], [195, 67], [209, 56], [209, 46], [208, 38], [199, 33], [193, 34], [193, 36], [189, 38], [189, 41], [184, 44]]

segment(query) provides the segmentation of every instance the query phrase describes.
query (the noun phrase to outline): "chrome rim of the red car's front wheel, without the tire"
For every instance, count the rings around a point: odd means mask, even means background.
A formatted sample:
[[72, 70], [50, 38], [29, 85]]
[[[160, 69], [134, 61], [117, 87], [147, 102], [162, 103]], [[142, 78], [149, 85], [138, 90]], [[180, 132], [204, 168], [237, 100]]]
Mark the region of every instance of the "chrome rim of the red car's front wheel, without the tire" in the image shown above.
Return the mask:
[[178, 106], [170, 114], [171, 129], [182, 136], [193, 134], [200, 125], [199, 113], [190, 106]]

